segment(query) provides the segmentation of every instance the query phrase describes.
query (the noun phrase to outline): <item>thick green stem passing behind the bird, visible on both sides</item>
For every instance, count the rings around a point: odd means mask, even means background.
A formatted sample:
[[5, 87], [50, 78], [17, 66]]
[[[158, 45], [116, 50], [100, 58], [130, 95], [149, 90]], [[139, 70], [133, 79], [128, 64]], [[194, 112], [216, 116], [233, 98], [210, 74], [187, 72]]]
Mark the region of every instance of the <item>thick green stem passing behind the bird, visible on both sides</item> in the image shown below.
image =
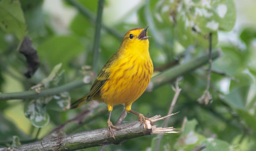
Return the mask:
[[[216, 59], [221, 55], [221, 51], [212, 52], [212, 59]], [[187, 63], [177, 65], [176, 67], [167, 69], [162, 73], [154, 76], [151, 79], [150, 84], [147, 87], [146, 92], [151, 92], [154, 88], [162, 86], [168, 82], [173, 82], [177, 77], [184, 75], [185, 73], [191, 72], [202, 65], [208, 63], [208, 59], [206, 58], [208, 55], [204, 55], [201, 57], [197, 57]], [[11, 100], [11, 99], [28, 99], [28, 98], [39, 98], [46, 97], [54, 94], [59, 94], [64, 91], [69, 91], [74, 88], [78, 88], [84, 86], [86, 83], [83, 82], [82, 79], [77, 80], [75, 82], [64, 84], [63, 86], [49, 88], [47, 90], [42, 90], [40, 93], [37, 93], [35, 90], [23, 91], [23, 92], [15, 92], [15, 93], [0, 93], [0, 101]]]

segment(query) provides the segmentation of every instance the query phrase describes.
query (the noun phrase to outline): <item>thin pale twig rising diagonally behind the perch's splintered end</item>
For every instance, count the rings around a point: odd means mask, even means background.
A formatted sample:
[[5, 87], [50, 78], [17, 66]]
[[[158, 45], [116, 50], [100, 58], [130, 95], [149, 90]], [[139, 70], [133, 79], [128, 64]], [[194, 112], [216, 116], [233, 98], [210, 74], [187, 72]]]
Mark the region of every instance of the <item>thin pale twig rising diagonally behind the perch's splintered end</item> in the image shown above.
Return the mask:
[[[178, 86], [178, 82], [179, 82], [179, 78], [176, 79], [175, 88], [172, 86], [172, 89], [173, 89], [173, 91], [175, 92], [175, 94], [174, 94], [174, 97], [173, 97], [173, 99], [172, 99], [172, 103], [171, 103], [171, 105], [170, 105], [170, 108], [169, 108], [169, 111], [168, 111], [167, 115], [172, 114], [174, 105], [176, 104], [176, 101], [177, 101], [177, 99], [178, 99], [178, 96], [180, 95], [181, 88]], [[170, 120], [170, 118], [166, 118], [166, 119], [165, 119], [165, 121], [163, 122], [163, 127], [167, 127], [167, 125], [168, 125], [168, 123], [169, 123], [169, 120]], [[163, 137], [162, 135], [158, 137], [157, 144], [156, 144], [156, 146], [155, 146], [155, 151], [158, 151], [158, 148], [159, 148], [159, 146], [160, 146], [162, 137]]]

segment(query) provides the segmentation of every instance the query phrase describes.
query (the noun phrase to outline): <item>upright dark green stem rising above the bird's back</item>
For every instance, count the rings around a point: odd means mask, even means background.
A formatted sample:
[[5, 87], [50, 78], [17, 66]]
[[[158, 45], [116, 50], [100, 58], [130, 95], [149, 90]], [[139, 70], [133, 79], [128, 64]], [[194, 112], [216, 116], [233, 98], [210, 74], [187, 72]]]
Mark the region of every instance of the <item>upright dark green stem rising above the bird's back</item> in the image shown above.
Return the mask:
[[95, 27], [95, 35], [94, 35], [94, 43], [93, 43], [93, 72], [97, 75], [97, 65], [98, 65], [98, 58], [99, 58], [99, 45], [101, 39], [101, 20], [102, 20], [102, 12], [103, 12], [103, 5], [105, 0], [99, 0], [98, 2], [98, 12], [96, 18], [96, 27]]

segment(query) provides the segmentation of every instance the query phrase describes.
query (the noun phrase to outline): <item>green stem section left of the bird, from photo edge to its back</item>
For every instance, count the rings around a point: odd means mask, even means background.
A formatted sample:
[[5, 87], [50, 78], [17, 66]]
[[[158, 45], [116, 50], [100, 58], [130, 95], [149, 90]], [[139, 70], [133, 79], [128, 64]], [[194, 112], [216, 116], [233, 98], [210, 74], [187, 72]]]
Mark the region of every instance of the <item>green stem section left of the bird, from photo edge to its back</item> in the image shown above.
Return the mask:
[[11, 99], [28, 99], [28, 98], [47, 97], [50, 95], [59, 94], [64, 91], [69, 91], [74, 88], [81, 87], [84, 84], [85, 83], [83, 82], [83, 80], [80, 79], [68, 84], [64, 84], [63, 86], [42, 90], [40, 93], [37, 93], [35, 90], [15, 92], [15, 93], [3, 93], [3, 94], [0, 93], [0, 101], [11, 100]]

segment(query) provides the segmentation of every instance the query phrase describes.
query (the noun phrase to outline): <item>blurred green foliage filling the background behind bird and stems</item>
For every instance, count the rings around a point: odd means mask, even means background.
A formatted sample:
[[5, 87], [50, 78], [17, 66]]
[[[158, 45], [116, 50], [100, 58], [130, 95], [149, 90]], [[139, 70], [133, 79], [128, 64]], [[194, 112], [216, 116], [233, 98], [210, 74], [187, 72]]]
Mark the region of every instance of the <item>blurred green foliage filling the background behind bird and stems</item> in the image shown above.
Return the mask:
[[[64, 8], [76, 10], [67, 1], [61, 2]], [[97, 1], [77, 2], [91, 13], [97, 12]], [[94, 22], [75, 11], [70, 22], [65, 25], [61, 18], [58, 18], [61, 15], [50, 14], [44, 9], [45, 3], [46, 0], [0, 0], [1, 93], [26, 91], [35, 85], [37, 86], [34, 89], [40, 91], [58, 87], [89, 74], [93, 58], [91, 48]], [[113, 2], [107, 0], [105, 4], [105, 7], [111, 7]], [[134, 14], [137, 22], [128, 22], [129, 17]], [[168, 124], [177, 128], [180, 133], [164, 135], [159, 150], [187, 151], [198, 145], [206, 146], [203, 151], [254, 150], [256, 28], [242, 27], [235, 42], [218, 41], [218, 34], [231, 31], [236, 22], [234, 1], [145, 0], [124, 16], [120, 21], [111, 23], [110, 27], [124, 35], [130, 29], [150, 26], [148, 34], [152, 38], [149, 51], [155, 68], [177, 60], [177, 56], [178, 63], [182, 64], [206, 53], [210, 32], [213, 33], [214, 49], [222, 49], [222, 56], [212, 64], [210, 93], [213, 102], [208, 105], [197, 102], [206, 88], [207, 72], [204, 67], [183, 76], [179, 82], [181, 94], [174, 106], [174, 112], [180, 113], [171, 117]], [[105, 17], [103, 15], [103, 18]], [[26, 60], [16, 51], [25, 35], [32, 39], [33, 48], [38, 51], [41, 63], [41, 67], [31, 79], [23, 76], [26, 72]], [[121, 39], [102, 30], [98, 70], [116, 52], [120, 42]], [[159, 72], [161, 71], [155, 71], [155, 74]], [[76, 110], [66, 110], [71, 100], [78, 99], [89, 89], [90, 85], [86, 85], [50, 97], [0, 101], [0, 146], [15, 146], [19, 145], [19, 142], [24, 144], [24, 140], [34, 139], [38, 131], [35, 127], [41, 127], [39, 139], [43, 138], [52, 129], [86, 108], [83, 106]], [[149, 117], [156, 114], [165, 115], [173, 95], [171, 83], [166, 83], [150, 93], [144, 93], [132, 108], [143, 114], [149, 113]], [[100, 105], [102, 106], [106, 105]], [[23, 110], [24, 114], [20, 114]], [[117, 120], [121, 110], [122, 107], [114, 107], [112, 121]], [[97, 112], [93, 113], [92, 117], [97, 115]], [[106, 118], [106, 112], [102, 112], [97, 118], [92, 118], [79, 128], [75, 125], [69, 126], [65, 133], [106, 127]], [[187, 122], [184, 122], [184, 119], [188, 119]], [[124, 122], [134, 120], [137, 120], [137, 117], [128, 113]], [[162, 122], [158, 123], [161, 124]], [[73, 127], [75, 129], [72, 129]], [[140, 137], [125, 141], [121, 146], [110, 145], [106, 150], [153, 151], [157, 140], [158, 136]], [[99, 148], [87, 150], [96, 151]]]

